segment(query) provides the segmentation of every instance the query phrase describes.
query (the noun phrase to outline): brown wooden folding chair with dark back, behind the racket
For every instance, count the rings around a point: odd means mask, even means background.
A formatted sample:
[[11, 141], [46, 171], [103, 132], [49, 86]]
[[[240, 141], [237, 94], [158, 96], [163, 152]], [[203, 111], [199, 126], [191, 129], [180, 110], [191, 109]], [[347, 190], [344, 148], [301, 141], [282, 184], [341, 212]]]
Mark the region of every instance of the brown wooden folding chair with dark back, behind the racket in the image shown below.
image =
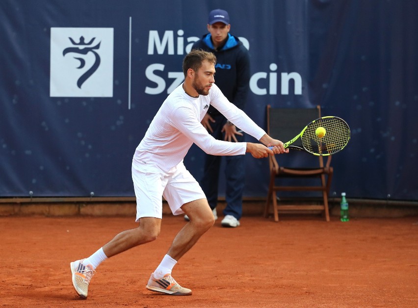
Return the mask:
[[[275, 139], [287, 142], [296, 135], [298, 135], [301, 132], [301, 130], [306, 125], [308, 125], [308, 123], [319, 118], [320, 116], [320, 106], [316, 106], [316, 108], [272, 108], [270, 105], [268, 105], [267, 133]], [[300, 141], [300, 139], [298, 141]], [[301, 146], [301, 143], [294, 143], [293, 145]], [[292, 159], [292, 155], [296, 154], [306, 155], [306, 157], [303, 156], [302, 160], [304, 162], [309, 161], [310, 163], [304, 163], [303, 166], [302, 164], [295, 166], [294, 163], [289, 163], [292, 166], [287, 167], [278, 163], [278, 161], [280, 160], [287, 160], [288, 162], [289, 159]], [[301, 161], [301, 159], [299, 159], [299, 161]], [[306, 164], [308, 164], [309, 166], [307, 166]], [[264, 217], [269, 216], [270, 203], [272, 202], [275, 221], [279, 221], [279, 211], [298, 210], [323, 211], [325, 214], [326, 221], [329, 221], [330, 218], [328, 209], [328, 195], [333, 176], [333, 168], [330, 166], [330, 164], [331, 155], [327, 156], [327, 161], [324, 165], [324, 159], [322, 156], [314, 156], [312, 154], [305, 153], [304, 151], [299, 152], [298, 150], [290, 150], [289, 154], [270, 155], [270, 182], [268, 186], [267, 201], [264, 208]], [[284, 180], [285, 178], [293, 180]], [[277, 183], [279, 180], [281, 183]], [[289, 183], [289, 181], [291, 183]], [[298, 184], [295, 184], [295, 181]], [[282, 201], [278, 201], [276, 193], [277, 191], [321, 192], [320, 205], [315, 205], [312, 202], [310, 204], [308, 204], [307, 202], [305, 202], [305, 204], [294, 204], [294, 202], [284, 204]]]

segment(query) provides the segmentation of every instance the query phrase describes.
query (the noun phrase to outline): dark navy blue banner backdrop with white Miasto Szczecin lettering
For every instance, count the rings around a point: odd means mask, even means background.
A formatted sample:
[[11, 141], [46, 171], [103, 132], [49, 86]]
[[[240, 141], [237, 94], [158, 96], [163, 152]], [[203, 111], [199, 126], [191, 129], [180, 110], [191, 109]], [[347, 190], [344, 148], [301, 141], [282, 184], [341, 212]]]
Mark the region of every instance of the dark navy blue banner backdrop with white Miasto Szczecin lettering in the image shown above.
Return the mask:
[[[414, 0], [2, 0], [0, 196], [133, 196], [134, 150], [215, 8], [249, 49], [257, 124], [319, 104], [352, 129], [332, 192], [418, 200]], [[203, 176], [202, 150], [184, 162]], [[245, 196], [264, 197], [267, 160], [246, 163]]]

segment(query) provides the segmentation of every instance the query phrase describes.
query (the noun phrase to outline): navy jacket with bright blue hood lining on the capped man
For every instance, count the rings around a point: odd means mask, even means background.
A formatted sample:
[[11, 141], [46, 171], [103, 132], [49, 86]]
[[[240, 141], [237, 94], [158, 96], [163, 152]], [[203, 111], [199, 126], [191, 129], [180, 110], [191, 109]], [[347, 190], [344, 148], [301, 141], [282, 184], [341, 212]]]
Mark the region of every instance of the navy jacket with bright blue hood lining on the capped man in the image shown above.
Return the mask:
[[[210, 36], [210, 33], [205, 34], [193, 44], [192, 49], [202, 49], [215, 54], [215, 83], [231, 103], [243, 110], [249, 91], [250, 54], [242, 42], [229, 33], [224, 46], [215, 50]], [[211, 116], [220, 114], [213, 106], [209, 107], [208, 112]]]

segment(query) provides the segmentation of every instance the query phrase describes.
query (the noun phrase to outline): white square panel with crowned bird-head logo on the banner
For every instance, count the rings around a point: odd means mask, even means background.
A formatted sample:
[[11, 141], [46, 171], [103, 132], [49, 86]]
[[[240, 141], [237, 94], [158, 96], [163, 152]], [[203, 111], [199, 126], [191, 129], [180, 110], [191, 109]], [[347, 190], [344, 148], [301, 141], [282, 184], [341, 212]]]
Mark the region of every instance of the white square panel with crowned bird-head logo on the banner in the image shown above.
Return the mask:
[[113, 28], [51, 28], [51, 97], [113, 97]]

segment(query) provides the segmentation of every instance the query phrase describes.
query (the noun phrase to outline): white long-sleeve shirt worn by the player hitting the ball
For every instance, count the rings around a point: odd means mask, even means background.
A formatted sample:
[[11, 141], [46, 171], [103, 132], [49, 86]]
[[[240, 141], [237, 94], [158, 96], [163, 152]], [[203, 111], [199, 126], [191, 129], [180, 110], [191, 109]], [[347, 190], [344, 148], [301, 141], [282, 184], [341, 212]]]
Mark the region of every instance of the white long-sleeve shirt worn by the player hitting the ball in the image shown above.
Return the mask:
[[193, 143], [211, 155], [245, 154], [245, 142], [216, 140], [203, 127], [201, 121], [209, 104], [257, 140], [265, 134], [242, 110], [230, 103], [215, 84], [212, 84], [209, 95], [197, 98], [187, 95], [181, 84], [162, 103], [133, 159], [155, 164], [168, 172], [183, 160]]

